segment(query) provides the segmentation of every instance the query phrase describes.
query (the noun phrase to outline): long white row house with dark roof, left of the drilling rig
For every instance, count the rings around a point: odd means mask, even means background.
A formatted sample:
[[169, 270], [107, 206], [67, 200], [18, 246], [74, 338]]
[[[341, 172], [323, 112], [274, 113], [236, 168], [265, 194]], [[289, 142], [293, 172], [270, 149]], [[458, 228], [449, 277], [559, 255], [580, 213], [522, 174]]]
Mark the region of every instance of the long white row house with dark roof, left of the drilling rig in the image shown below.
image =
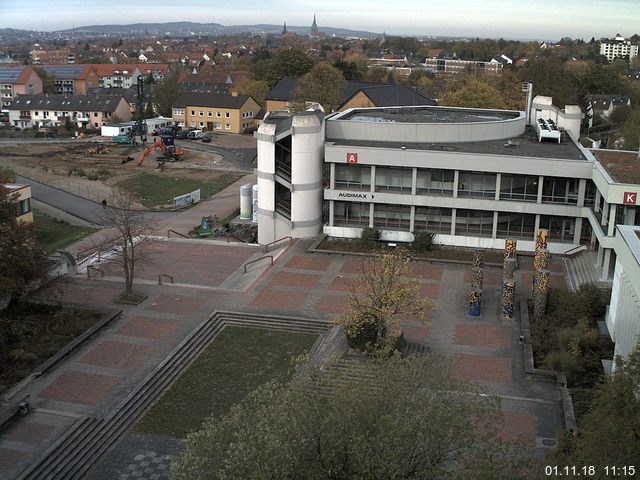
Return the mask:
[[67, 121], [79, 128], [131, 120], [122, 95], [19, 95], [7, 107], [9, 122], [18, 128], [56, 127]]

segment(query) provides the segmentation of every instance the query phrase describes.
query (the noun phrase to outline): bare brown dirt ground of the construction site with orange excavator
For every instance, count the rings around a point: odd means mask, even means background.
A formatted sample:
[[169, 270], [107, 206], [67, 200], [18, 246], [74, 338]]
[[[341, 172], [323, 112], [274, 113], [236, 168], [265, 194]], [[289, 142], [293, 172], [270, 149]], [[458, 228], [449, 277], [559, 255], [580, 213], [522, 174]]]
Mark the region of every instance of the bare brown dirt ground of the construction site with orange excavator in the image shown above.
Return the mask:
[[[180, 178], [202, 178], [203, 174], [217, 174], [215, 162], [220, 155], [184, 149], [184, 160], [167, 163], [164, 172], [156, 168], [159, 150], [151, 153], [142, 165], [138, 165], [143, 148], [105, 143], [111, 149], [108, 154], [90, 154], [95, 143], [68, 144], [16, 144], [3, 145], [0, 165], [14, 170], [18, 175], [32, 178], [61, 190], [94, 201], [107, 198], [113, 185], [138, 173], [154, 173]], [[126, 161], [127, 157], [133, 160]], [[124, 163], [123, 163], [124, 162]], [[89, 178], [96, 178], [91, 180]]]

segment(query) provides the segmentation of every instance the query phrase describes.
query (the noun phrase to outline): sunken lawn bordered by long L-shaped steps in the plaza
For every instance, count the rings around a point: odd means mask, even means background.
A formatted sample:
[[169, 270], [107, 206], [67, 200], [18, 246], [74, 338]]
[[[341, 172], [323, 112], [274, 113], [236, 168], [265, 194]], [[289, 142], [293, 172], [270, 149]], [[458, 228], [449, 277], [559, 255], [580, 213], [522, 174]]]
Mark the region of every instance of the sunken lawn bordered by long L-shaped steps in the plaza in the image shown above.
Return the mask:
[[225, 327], [134, 427], [186, 438], [210, 416], [224, 415], [256, 387], [291, 374], [291, 360], [317, 335]]

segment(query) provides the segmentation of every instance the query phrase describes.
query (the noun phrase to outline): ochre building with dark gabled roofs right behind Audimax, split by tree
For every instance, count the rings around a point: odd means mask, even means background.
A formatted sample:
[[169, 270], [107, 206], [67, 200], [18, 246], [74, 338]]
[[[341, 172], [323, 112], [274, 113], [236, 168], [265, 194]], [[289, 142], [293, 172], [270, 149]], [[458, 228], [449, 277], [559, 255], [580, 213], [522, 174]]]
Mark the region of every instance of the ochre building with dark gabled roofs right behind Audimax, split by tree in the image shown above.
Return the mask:
[[[285, 77], [266, 96], [268, 112], [287, 110], [294, 101], [298, 80]], [[436, 105], [435, 100], [425, 97], [413, 88], [388, 83], [347, 81], [341, 94], [341, 105], [337, 111], [348, 108], [394, 107], [405, 105]]]

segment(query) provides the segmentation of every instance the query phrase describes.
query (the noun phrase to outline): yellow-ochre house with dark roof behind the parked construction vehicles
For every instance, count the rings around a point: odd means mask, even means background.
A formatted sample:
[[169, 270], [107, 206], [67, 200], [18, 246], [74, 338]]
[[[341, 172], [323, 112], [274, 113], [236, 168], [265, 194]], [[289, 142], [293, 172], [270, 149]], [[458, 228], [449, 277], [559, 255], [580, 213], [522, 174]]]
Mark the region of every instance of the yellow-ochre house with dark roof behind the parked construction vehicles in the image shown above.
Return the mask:
[[249, 95], [182, 93], [174, 102], [174, 122], [185, 128], [242, 133], [256, 126], [260, 105]]

